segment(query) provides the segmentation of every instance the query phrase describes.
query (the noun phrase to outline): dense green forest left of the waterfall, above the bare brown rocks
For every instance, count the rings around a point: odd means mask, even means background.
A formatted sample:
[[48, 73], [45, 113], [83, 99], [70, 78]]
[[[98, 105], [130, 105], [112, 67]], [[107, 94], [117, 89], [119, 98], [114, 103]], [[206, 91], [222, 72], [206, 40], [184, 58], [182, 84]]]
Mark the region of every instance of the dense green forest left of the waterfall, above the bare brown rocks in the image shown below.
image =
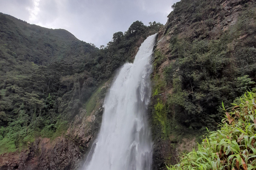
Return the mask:
[[136, 42], [159, 26], [136, 21], [98, 49], [65, 30], [0, 13], [0, 153], [64, 132], [79, 107], [136, 52]]

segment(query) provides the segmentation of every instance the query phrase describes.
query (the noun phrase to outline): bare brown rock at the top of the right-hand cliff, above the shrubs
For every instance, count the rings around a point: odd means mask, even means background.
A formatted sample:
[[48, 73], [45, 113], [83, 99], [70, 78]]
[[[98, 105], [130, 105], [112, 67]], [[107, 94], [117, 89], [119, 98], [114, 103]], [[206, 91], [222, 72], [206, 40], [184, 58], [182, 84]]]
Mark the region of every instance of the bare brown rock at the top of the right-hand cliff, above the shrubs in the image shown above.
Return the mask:
[[[170, 58], [172, 55], [171, 49], [169, 48], [172, 36], [184, 35], [183, 38], [190, 38], [191, 40], [197, 38], [217, 39], [221, 32], [225, 32], [237, 22], [239, 14], [245, 9], [244, 4], [248, 1], [219, 0], [213, 2], [215, 3], [210, 5], [213, 5], [214, 9], [207, 10], [213, 14], [204, 20], [195, 18], [193, 12], [190, 13], [190, 11], [178, 11], [175, 14], [171, 12], [167, 17], [167, 23], [158, 32], [156, 49], [159, 49], [169, 57], [169, 60], [172, 60]], [[249, 1], [249, 3], [253, 2]], [[180, 2], [177, 3], [177, 8], [179, 8], [179, 5]], [[195, 7], [191, 4], [190, 8]], [[208, 21], [209, 19], [210, 21]], [[199, 20], [201, 21], [198, 22]]]

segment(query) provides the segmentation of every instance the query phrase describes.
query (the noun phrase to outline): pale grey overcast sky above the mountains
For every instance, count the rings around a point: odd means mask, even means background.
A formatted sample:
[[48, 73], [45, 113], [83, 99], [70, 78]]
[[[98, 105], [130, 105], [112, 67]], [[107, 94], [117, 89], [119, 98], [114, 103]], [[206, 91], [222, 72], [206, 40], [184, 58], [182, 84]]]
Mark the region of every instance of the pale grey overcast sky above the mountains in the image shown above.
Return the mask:
[[165, 24], [179, 0], [0, 0], [0, 12], [46, 28], [62, 28], [97, 47], [134, 21]]

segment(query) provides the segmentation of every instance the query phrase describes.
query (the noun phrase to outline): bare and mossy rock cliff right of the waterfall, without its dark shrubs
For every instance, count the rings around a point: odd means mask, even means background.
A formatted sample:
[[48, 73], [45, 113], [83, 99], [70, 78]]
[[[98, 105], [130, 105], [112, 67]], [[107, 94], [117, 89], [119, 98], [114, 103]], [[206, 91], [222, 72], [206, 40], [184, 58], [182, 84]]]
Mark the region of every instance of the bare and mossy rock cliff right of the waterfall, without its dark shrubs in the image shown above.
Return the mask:
[[[200, 135], [204, 134], [205, 126], [190, 121], [192, 118], [189, 118], [189, 113], [186, 113], [186, 107], [173, 104], [170, 99], [171, 96], [175, 96], [175, 93], [179, 93], [180, 96], [188, 95], [188, 98], [184, 99], [185, 102], [197, 100], [190, 97], [195, 93], [195, 90], [193, 91], [194, 87], [192, 87], [195, 80], [192, 80], [192, 84], [190, 84], [191, 80], [187, 79], [188, 87], [181, 85], [180, 91], [177, 91], [177, 84], [174, 84], [174, 80], [182, 81], [183, 79], [182, 75], [179, 74], [182, 71], [180, 70], [181, 67], [176, 66], [180, 61], [178, 59], [187, 57], [186, 54], [191, 50], [191, 48], [186, 48], [186, 45], [192, 44], [192, 42], [215, 41], [221, 39], [223, 35], [231, 35], [232, 29], [234, 27], [237, 28], [237, 25], [241, 23], [241, 16], [243, 17], [246, 11], [255, 10], [254, 4], [254, 0], [182, 0], [176, 3], [174, 11], [168, 15], [167, 23], [158, 32], [159, 36], [154, 58], [155, 70], [152, 74], [153, 169], [166, 169], [166, 164], [177, 163], [180, 153], [191, 151], [197, 147], [196, 142], [201, 139]], [[252, 20], [250, 23], [255, 24], [255, 21]], [[239, 35], [236, 35], [236, 38], [232, 37], [227, 42], [232, 47], [232, 50], [229, 50], [229, 54], [235, 53], [235, 48], [237, 47], [238, 49], [241, 44], [243, 48], [254, 48], [253, 45], [248, 45], [248, 42], [255, 44], [255, 39], [255, 26], [249, 33], [239, 31]], [[183, 45], [177, 47], [177, 40]], [[247, 42], [247, 45], [245, 42]], [[175, 48], [177, 48], [176, 51]], [[201, 62], [201, 67], [204, 67], [203, 61]], [[226, 70], [228, 69], [226, 68]], [[193, 74], [203, 73], [199, 69], [199, 71], [194, 70]], [[171, 81], [168, 76], [171, 77]], [[204, 81], [204, 79], [200, 81]], [[218, 79], [214, 81], [217, 82]], [[190, 91], [187, 90], [188, 88], [190, 88]], [[194, 89], [196, 88], [198, 87]], [[204, 92], [202, 91], [202, 93]], [[182, 101], [180, 100], [179, 102]], [[210, 105], [210, 103], [208, 104]], [[199, 106], [193, 108], [193, 110], [198, 109], [200, 109]], [[200, 116], [198, 115], [198, 117]], [[185, 121], [186, 119], [188, 120]], [[216, 122], [218, 121], [216, 120]]]

